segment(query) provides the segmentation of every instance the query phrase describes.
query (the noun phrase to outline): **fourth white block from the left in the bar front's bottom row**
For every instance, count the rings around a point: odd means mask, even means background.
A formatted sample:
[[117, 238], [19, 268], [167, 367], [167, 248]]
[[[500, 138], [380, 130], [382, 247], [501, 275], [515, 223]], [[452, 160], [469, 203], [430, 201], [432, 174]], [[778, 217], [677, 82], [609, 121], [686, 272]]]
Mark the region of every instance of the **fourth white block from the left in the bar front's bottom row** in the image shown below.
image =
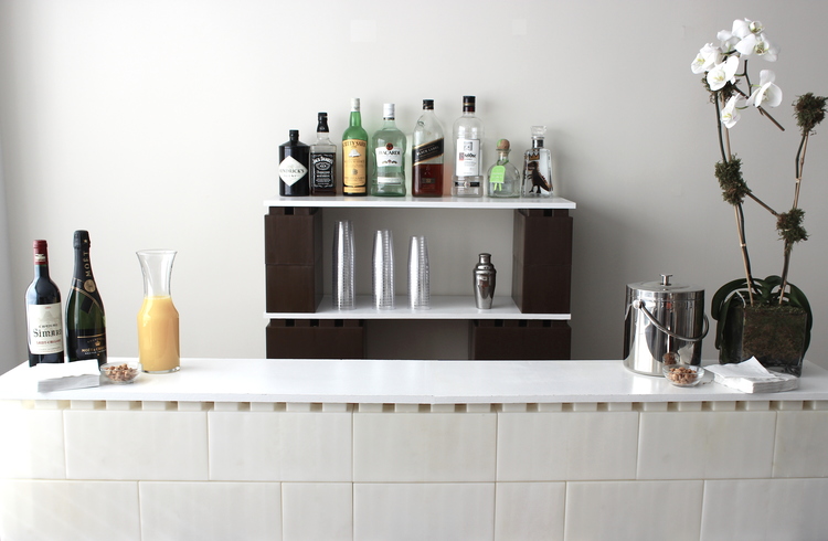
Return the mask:
[[354, 541], [489, 540], [495, 484], [354, 484]]

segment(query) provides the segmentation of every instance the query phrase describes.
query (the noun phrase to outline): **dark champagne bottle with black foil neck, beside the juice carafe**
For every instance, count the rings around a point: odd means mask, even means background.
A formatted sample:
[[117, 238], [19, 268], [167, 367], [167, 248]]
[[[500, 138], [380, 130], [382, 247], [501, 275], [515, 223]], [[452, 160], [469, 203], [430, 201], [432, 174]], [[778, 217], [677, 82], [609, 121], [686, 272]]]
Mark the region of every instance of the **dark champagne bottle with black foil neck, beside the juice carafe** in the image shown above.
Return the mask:
[[66, 298], [66, 357], [68, 361], [106, 362], [106, 316], [89, 259], [89, 233], [75, 231], [75, 273]]

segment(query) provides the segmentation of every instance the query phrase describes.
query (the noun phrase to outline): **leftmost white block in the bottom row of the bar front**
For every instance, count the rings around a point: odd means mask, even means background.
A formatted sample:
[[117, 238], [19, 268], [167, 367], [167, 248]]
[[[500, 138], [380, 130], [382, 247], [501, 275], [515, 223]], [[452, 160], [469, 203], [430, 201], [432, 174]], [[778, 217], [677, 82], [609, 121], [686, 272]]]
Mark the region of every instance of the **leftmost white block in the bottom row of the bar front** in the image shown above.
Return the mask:
[[138, 484], [0, 480], [0, 539], [140, 541]]

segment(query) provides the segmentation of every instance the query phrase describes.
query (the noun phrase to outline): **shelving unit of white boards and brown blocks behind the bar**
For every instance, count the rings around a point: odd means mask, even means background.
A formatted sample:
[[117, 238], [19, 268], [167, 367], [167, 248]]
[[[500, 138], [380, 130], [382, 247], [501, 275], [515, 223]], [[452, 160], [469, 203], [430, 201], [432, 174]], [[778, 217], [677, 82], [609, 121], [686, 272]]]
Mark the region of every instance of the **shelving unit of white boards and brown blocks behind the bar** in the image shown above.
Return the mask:
[[[372, 321], [468, 321], [470, 359], [570, 358], [570, 277], [575, 203], [563, 198], [347, 198], [274, 197], [264, 201], [266, 330], [268, 358], [363, 358]], [[428, 310], [412, 310], [407, 298], [393, 310], [376, 310], [358, 295], [353, 310], [331, 308], [323, 291], [322, 213], [348, 209], [512, 210], [512, 279], [496, 294], [492, 309], [478, 310], [469, 295], [432, 295]], [[402, 262], [403, 265], [405, 262]], [[328, 263], [329, 264], [329, 263]], [[404, 266], [403, 266], [404, 268]], [[397, 270], [397, 276], [400, 270]], [[378, 323], [373, 323], [378, 325]]]

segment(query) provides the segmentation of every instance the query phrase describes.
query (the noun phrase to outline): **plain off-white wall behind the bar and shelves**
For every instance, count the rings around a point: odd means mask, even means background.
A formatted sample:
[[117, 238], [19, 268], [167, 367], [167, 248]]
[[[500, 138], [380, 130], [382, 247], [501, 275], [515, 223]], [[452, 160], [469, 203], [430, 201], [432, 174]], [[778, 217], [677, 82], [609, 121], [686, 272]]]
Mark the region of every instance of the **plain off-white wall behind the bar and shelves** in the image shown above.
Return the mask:
[[[135, 251], [173, 247], [182, 353], [263, 357], [262, 201], [277, 192], [288, 129], [310, 140], [327, 110], [340, 134], [352, 96], [369, 131], [383, 102], [411, 129], [424, 97], [450, 126], [460, 97], [475, 94], [489, 149], [500, 137], [523, 148], [529, 126], [550, 127], [559, 193], [578, 205], [573, 357], [619, 358], [626, 284], [672, 273], [710, 298], [741, 273], [732, 211], [712, 176], [714, 114], [690, 72], [697, 51], [742, 17], [762, 20], [782, 45], [771, 67], [788, 131], [750, 115], [732, 139], [749, 182], [784, 210], [798, 142], [789, 104], [828, 93], [827, 15], [822, 2], [771, 0], [2, 0], [7, 300], [22, 321], [35, 237], [50, 241], [65, 290], [72, 232], [88, 229], [112, 354], [137, 354]], [[815, 309], [816, 362], [828, 350], [827, 148], [828, 136], [811, 140], [802, 200], [811, 238], [796, 247], [790, 275]], [[747, 214], [756, 274], [778, 274], [773, 220], [755, 205]], [[704, 356], [714, 354], [708, 339]]]

